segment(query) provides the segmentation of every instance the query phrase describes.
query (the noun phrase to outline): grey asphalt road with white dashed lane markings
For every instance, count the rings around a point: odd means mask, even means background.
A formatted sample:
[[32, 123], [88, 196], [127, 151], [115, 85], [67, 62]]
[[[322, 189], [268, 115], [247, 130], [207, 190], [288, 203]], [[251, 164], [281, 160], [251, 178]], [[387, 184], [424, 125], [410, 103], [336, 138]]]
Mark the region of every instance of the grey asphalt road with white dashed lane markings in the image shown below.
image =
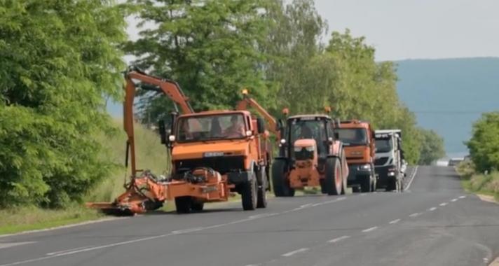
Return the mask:
[[499, 256], [499, 205], [467, 195], [449, 167], [410, 177], [404, 193], [276, 198], [257, 211], [230, 203], [1, 237], [0, 266], [457, 266]]

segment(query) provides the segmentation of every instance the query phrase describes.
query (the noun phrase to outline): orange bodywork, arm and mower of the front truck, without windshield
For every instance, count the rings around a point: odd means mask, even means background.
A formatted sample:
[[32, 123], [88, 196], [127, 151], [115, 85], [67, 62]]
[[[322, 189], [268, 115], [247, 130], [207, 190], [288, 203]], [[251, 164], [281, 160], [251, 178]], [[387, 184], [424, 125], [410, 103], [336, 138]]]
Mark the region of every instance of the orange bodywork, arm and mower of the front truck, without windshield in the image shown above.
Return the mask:
[[[87, 207], [101, 209], [108, 213], [140, 214], [151, 209], [158, 209], [163, 202], [175, 200], [177, 197], [192, 197], [193, 202], [221, 202], [227, 201], [231, 190], [235, 188], [226, 174], [220, 174], [210, 167], [197, 167], [184, 173], [189, 178], [181, 176], [175, 179], [175, 163], [182, 160], [209, 160], [206, 153], [222, 154], [230, 160], [233, 156], [244, 158], [240, 171], [253, 171], [254, 167], [266, 167], [270, 162], [268, 149], [268, 132], [258, 132], [257, 119], [252, 117], [246, 106], [238, 105], [238, 111], [205, 111], [195, 113], [188, 103], [179, 85], [172, 80], [165, 80], [149, 76], [146, 73], [133, 69], [125, 74], [125, 102], [123, 103], [124, 130], [128, 136], [127, 155], [130, 155], [132, 175], [129, 183], [125, 184], [125, 192], [116, 197], [114, 202], [90, 202]], [[149, 171], [137, 169], [135, 158], [135, 135], [133, 119], [133, 102], [137, 84], [133, 80], [140, 80], [142, 89], [163, 92], [180, 106], [182, 115], [175, 120], [189, 117], [240, 115], [244, 121], [245, 136], [240, 139], [217, 139], [214, 141], [179, 142], [172, 140], [168, 144], [171, 153], [172, 176], [159, 180]], [[264, 111], [261, 109], [260, 111]], [[270, 116], [269, 116], [270, 117]], [[175, 130], [178, 130], [175, 126]], [[250, 134], [249, 134], [250, 133]], [[175, 133], [174, 133], [175, 135]], [[128, 158], [128, 156], [127, 156]]]

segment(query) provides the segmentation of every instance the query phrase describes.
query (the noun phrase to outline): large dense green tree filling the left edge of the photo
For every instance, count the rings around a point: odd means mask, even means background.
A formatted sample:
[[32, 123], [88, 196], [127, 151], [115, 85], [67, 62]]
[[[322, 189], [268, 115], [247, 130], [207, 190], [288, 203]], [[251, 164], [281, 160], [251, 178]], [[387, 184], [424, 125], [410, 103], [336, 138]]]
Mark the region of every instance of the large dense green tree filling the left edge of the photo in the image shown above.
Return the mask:
[[0, 207], [62, 206], [105, 176], [93, 135], [121, 93], [124, 29], [113, 1], [0, 0]]

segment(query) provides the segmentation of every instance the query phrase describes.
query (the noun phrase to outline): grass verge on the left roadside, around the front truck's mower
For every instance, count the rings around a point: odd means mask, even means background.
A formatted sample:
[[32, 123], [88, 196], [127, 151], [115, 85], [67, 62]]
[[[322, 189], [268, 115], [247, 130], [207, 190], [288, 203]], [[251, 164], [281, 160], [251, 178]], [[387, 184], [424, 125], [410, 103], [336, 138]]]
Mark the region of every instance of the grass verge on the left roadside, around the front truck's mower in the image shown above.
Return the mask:
[[[102, 157], [110, 158], [116, 164], [115, 169], [102, 183], [85, 197], [86, 202], [111, 202], [123, 193], [123, 182], [130, 178], [130, 167], [125, 168], [125, 141], [123, 124], [114, 121], [116, 132], [113, 136], [104, 134], [97, 137], [107, 150]], [[158, 135], [141, 125], [135, 125], [135, 143], [137, 148], [137, 168], [151, 169], [154, 174], [163, 174], [168, 167], [166, 148], [160, 144]], [[172, 211], [173, 204], [165, 204], [162, 211]], [[74, 204], [67, 209], [40, 209], [21, 207], [0, 209], [0, 235], [28, 230], [53, 228], [61, 225], [91, 221], [105, 217], [98, 211]]]

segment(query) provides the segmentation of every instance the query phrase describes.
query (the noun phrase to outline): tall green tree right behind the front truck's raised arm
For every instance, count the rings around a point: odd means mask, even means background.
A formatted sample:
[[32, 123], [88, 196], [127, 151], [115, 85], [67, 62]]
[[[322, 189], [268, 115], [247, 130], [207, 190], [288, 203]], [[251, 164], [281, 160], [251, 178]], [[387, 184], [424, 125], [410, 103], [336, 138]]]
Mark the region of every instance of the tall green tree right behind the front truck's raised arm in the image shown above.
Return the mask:
[[[141, 20], [153, 28], [126, 45], [137, 64], [171, 78], [196, 110], [230, 108], [242, 87], [257, 99], [273, 97], [264, 82], [259, 45], [267, 34], [264, 0], [137, 0]], [[139, 109], [153, 119], [171, 110], [164, 97], [146, 95]], [[266, 103], [271, 104], [271, 101]]]

